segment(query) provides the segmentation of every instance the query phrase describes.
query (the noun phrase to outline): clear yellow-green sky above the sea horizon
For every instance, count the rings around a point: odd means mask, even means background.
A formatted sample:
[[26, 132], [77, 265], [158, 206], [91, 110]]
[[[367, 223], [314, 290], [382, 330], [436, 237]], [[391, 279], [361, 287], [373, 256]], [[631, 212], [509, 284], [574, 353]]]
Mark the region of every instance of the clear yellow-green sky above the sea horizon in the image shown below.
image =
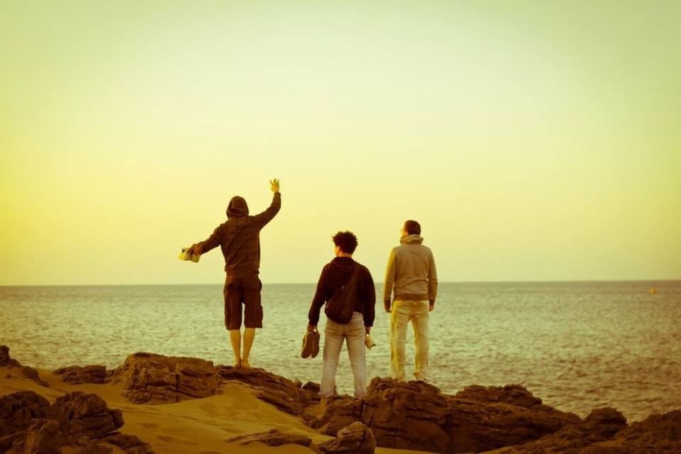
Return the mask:
[[264, 282], [331, 235], [382, 281], [681, 278], [678, 1], [0, 2], [0, 284], [222, 282], [182, 246], [282, 211]]

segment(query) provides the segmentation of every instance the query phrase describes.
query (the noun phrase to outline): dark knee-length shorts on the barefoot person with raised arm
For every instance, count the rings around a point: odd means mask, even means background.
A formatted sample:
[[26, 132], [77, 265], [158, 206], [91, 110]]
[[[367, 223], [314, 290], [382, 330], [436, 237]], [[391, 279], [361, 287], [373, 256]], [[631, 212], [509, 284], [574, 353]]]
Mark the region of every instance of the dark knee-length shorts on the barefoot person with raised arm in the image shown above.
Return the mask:
[[225, 327], [241, 328], [241, 305], [243, 324], [246, 328], [262, 328], [262, 305], [260, 304], [262, 282], [257, 273], [228, 275], [225, 279]]

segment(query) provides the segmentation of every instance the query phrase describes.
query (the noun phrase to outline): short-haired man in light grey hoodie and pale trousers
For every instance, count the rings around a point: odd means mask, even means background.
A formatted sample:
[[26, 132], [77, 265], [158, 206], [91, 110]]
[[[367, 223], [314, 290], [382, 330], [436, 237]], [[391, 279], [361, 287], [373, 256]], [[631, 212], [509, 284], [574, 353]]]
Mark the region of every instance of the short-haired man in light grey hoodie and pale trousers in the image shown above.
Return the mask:
[[[404, 342], [409, 321], [416, 344], [416, 380], [428, 380], [428, 314], [435, 308], [438, 275], [421, 226], [405, 221], [400, 245], [390, 251], [383, 287], [383, 305], [390, 314], [390, 372], [404, 380]], [[394, 294], [394, 298], [391, 297]]]

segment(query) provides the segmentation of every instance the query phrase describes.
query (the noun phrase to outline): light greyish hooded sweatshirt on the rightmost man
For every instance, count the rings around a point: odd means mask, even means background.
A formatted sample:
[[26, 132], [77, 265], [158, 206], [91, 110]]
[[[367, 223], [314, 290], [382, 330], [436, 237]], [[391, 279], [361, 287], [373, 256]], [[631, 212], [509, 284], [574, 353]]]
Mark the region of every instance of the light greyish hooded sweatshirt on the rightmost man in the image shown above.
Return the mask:
[[390, 251], [385, 271], [383, 301], [428, 301], [435, 303], [438, 293], [438, 275], [433, 253], [422, 245], [423, 237], [407, 235]]

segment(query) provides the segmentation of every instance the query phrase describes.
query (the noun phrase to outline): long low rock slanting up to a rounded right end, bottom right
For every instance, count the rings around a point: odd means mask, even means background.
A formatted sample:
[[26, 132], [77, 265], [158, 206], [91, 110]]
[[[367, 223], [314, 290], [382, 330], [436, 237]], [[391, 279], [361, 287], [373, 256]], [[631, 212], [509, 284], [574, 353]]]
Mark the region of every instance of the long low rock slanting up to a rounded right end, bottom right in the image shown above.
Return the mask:
[[626, 418], [619, 411], [611, 408], [597, 409], [580, 423], [565, 426], [538, 441], [502, 448], [499, 454], [579, 454], [593, 443], [610, 440], [623, 428], [626, 428]]

